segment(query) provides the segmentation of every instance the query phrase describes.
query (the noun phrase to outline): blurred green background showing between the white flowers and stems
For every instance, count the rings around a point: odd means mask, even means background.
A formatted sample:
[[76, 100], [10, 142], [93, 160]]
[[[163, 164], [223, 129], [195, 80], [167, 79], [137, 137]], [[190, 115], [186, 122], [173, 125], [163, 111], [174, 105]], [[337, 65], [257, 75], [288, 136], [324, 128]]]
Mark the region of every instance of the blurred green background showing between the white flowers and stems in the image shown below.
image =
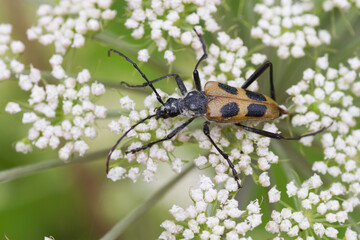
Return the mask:
[[[26, 29], [36, 23], [35, 13], [40, 2], [43, 1], [0, 0], [0, 22], [11, 23], [13, 25], [13, 39], [25, 43], [26, 51], [20, 60], [26, 64], [31, 63], [43, 71], [48, 71], [50, 70], [48, 59], [54, 53], [53, 48], [44, 47], [36, 41], [29, 42], [25, 34]], [[249, 6], [242, 8], [245, 11], [241, 12], [241, 17], [239, 17], [239, 3], [237, 1], [231, 3], [234, 6], [230, 4], [229, 7], [227, 5], [228, 14], [221, 15], [219, 13], [219, 15], [222, 16], [220, 22], [226, 23], [227, 28], [234, 29], [234, 26], [238, 26], [235, 27], [236, 30], [234, 31], [251, 49], [259, 45], [259, 41], [251, 40], [249, 37], [249, 26], [256, 23], [256, 17], [252, 11], [246, 11], [246, 9], [252, 9], [252, 3], [249, 3], [252, 1], [246, 2], [245, 5]], [[93, 79], [102, 82], [115, 84], [120, 81], [131, 81], [134, 84], [142, 82], [130, 64], [115, 55], [111, 58], [107, 57], [108, 48], [117, 48], [130, 58], [136, 59], [136, 52], [148, 46], [147, 42], [135, 41], [128, 37], [130, 32], [123, 27], [124, 6], [123, 1], [116, 1], [114, 4], [114, 8], [118, 10], [118, 18], [106, 26], [107, 34], [97, 35], [95, 39], [87, 39], [86, 47], [71, 50], [66, 55], [64, 62], [66, 62], [67, 73], [77, 74], [83, 68], [87, 68], [90, 70]], [[322, 23], [325, 23], [322, 26], [323, 28], [330, 26], [327, 17], [325, 16], [322, 19]], [[249, 25], [243, 24], [244, 19]], [[335, 37], [329, 49], [336, 49], [341, 45], [348, 46], [355, 42], [356, 37], [348, 37], [352, 35], [346, 28], [334, 27], [337, 29], [337, 36], [341, 37]], [[359, 26], [355, 26], [355, 30], [357, 30], [356, 27]], [[358, 36], [358, 31], [356, 34], [355, 36]], [[212, 38], [204, 37], [208, 44], [215, 40], [214, 36]], [[289, 106], [284, 91], [301, 79], [302, 72], [313, 64], [313, 59], [307, 56], [296, 61], [278, 60], [275, 57], [276, 52], [274, 50], [263, 50], [263, 53], [266, 53], [274, 64], [277, 100]], [[336, 57], [330, 61], [334, 63], [344, 61], [351, 56], [350, 51], [354, 51], [354, 48], [338, 51]], [[177, 60], [171, 66], [171, 70], [169, 70], [165, 60], [162, 59], [162, 54], [154, 53], [148, 63], [140, 64], [141, 69], [149, 78], [163, 76], [170, 71], [179, 73], [184, 79], [191, 78], [196, 63], [195, 54], [192, 50], [184, 49], [184, 51], [177, 52]], [[267, 75], [265, 77], [267, 78]], [[174, 83], [169, 81], [166, 87], [162, 87], [162, 90], [170, 93], [174, 87]], [[261, 91], [268, 93], [267, 81], [262, 82]], [[136, 92], [121, 90], [121, 94], [131, 94], [132, 98], [137, 100], [139, 109], [141, 109], [144, 97], [149, 93], [149, 90]], [[57, 157], [57, 152], [49, 149], [34, 150], [27, 155], [15, 152], [14, 143], [26, 136], [29, 126], [21, 123], [21, 114], [10, 115], [4, 109], [9, 101], [27, 101], [27, 98], [27, 93], [19, 89], [16, 80], [0, 82], [0, 171]], [[112, 88], [108, 88], [105, 96], [99, 101], [99, 104], [105, 105], [109, 110], [117, 110], [118, 103], [119, 91]], [[89, 142], [90, 149], [93, 151], [110, 149], [116, 141], [118, 135], [110, 133], [106, 127], [110, 120], [99, 121], [99, 136]], [[289, 125], [286, 125], [285, 121], [282, 122], [282, 129], [287, 129]], [[190, 129], [196, 127], [195, 124]], [[300, 132], [301, 129], [298, 131]], [[322, 158], [322, 154], [316, 147], [299, 148], [298, 144], [294, 142], [274, 142], [273, 147], [275, 152], [282, 156], [282, 159], [292, 156], [290, 162], [273, 166], [271, 169], [270, 175], [273, 182], [278, 184], [279, 190], [285, 189], [285, 184], [289, 180], [286, 178], [285, 172], [288, 172], [289, 169], [300, 169], [299, 175], [304, 178], [309, 177], [311, 162]], [[199, 151], [192, 151], [192, 149], [198, 148], [189, 145], [177, 149], [176, 153], [184, 159], [191, 160], [198, 155]], [[299, 149], [301, 150], [300, 154]], [[5, 238], [5, 236], [9, 239], [42, 239], [44, 236], [53, 236], [55, 239], [98, 239], [117, 221], [142, 203], [144, 199], [154, 194], [156, 189], [159, 189], [175, 176], [168, 165], [160, 164], [156, 180], [150, 184], [144, 183], [141, 178], [135, 184], [129, 180], [113, 183], [106, 179], [105, 158], [106, 155], [97, 161], [69, 164], [0, 183], [0, 239]], [[196, 186], [198, 175], [199, 170], [193, 170], [188, 174], [159, 203], [135, 221], [119, 239], [157, 238], [162, 231], [159, 226], [161, 222], [165, 219], [172, 219], [168, 209], [173, 204], [187, 207], [191, 203], [188, 191], [190, 186]], [[254, 196], [266, 198], [266, 194], [266, 189], [256, 188], [251, 178], [247, 178], [244, 187], [238, 194], [238, 200], [241, 205], [247, 205], [250, 199], [255, 198]], [[262, 208], [267, 207], [262, 206]], [[269, 217], [271, 208], [272, 206], [269, 206], [269, 209], [264, 210], [263, 220]], [[263, 227], [258, 229], [259, 231], [255, 234], [261, 236], [265, 230]], [[256, 239], [256, 237], [254, 238]]]

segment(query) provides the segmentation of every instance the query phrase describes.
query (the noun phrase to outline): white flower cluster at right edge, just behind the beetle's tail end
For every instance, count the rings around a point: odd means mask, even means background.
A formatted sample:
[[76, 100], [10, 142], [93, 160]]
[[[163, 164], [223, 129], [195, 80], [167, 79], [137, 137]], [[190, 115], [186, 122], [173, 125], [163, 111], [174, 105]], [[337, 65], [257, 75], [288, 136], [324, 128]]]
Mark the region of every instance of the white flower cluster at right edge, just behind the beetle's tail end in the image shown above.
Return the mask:
[[[293, 119], [295, 126], [306, 125], [311, 130], [319, 129], [320, 126], [329, 126], [334, 122], [331, 130], [337, 131], [339, 138], [330, 139], [329, 134], [323, 135], [325, 147], [336, 147], [344, 150], [352, 156], [356, 149], [349, 148], [357, 139], [343, 139], [341, 137], [356, 134], [353, 131], [356, 118], [360, 116], [360, 108], [354, 105], [354, 97], [360, 96], [359, 68], [360, 60], [351, 58], [348, 60], [350, 67], [340, 64], [338, 69], [329, 67], [327, 55], [317, 60], [318, 70], [307, 69], [303, 79], [287, 90], [292, 95], [295, 103], [295, 111], [298, 113]], [[343, 136], [346, 135], [346, 136]], [[334, 141], [335, 140], [335, 141]], [[334, 145], [335, 144], [335, 145]], [[348, 145], [350, 144], [350, 145]], [[356, 145], [355, 145], [356, 146]], [[331, 158], [328, 151], [326, 158]]]

